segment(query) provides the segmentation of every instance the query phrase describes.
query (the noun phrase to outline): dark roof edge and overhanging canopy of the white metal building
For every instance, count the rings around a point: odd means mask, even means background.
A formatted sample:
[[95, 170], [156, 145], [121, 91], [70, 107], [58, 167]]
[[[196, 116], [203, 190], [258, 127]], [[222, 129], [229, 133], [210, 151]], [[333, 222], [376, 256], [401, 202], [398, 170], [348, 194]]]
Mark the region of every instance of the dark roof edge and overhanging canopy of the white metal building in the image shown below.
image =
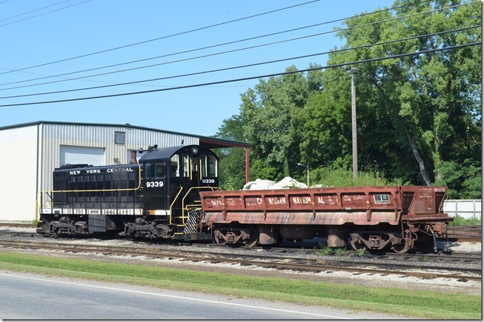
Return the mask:
[[200, 145], [204, 147], [208, 147], [209, 149], [217, 149], [217, 148], [224, 148], [224, 147], [250, 147], [252, 144], [248, 142], [239, 142], [239, 141], [232, 141], [232, 140], [225, 140], [220, 138], [212, 138], [210, 136], [199, 136], [197, 134], [190, 134], [190, 133], [181, 133], [175, 131], [166, 131], [162, 129], [153, 129], [149, 127], [138, 127], [136, 125], [131, 125], [129, 123], [126, 124], [107, 124], [107, 123], [80, 123], [80, 122], [56, 122], [56, 121], [36, 121], [36, 122], [28, 122], [28, 123], [21, 123], [17, 125], [8, 125], [5, 127], [0, 127], [0, 131], [7, 130], [7, 129], [15, 129], [17, 127], [28, 127], [34, 125], [41, 125], [41, 124], [52, 124], [52, 125], [80, 125], [80, 126], [92, 126], [92, 127], [125, 127], [127, 129], [142, 129], [146, 131], [155, 131], [155, 132], [163, 132], [163, 133], [173, 133], [182, 136], [193, 136], [195, 138], [199, 138]]

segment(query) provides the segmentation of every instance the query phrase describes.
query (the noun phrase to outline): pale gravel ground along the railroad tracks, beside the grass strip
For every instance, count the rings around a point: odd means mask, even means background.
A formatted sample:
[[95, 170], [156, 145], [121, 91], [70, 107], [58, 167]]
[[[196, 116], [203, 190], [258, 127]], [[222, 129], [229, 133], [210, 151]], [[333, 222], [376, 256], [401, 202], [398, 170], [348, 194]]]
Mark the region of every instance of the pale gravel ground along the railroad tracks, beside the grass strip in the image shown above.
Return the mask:
[[[21, 232], [31, 232], [35, 233], [34, 228], [14, 228], [14, 227], [2, 227], [0, 230], [10, 230], [10, 231], [21, 231]], [[46, 239], [48, 240], [48, 239]], [[54, 239], [52, 239], [54, 241]], [[90, 245], [103, 245], [103, 246], [126, 246], [132, 247], [135, 245], [140, 245], [139, 242], [131, 240], [100, 240], [100, 239], [73, 239], [72, 241], [65, 241], [66, 244], [90, 244]], [[143, 246], [148, 246], [150, 244], [143, 244]], [[203, 246], [172, 246], [172, 245], [162, 245], [162, 244], [151, 244], [154, 248], [166, 248], [174, 249], [175, 247], [182, 247], [186, 250], [200, 250], [200, 248], [210, 248], [210, 251], [219, 251], [221, 253], [227, 253], [227, 249], [213, 247], [210, 245]], [[437, 248], [442, 250], [444, 247], [443, 242], [437, 243]], [[9, 248], [3, 248], [5, 251], [10, 251]], [[481, 243], [450, 243], [450, 250], [454, 253], [481, 253]], [[287, 270], [276, 270], [272, 268], [259, 268], [254, 266], [240, 266], [239, 264], [210, 264], [208, 262], [192, 262], [192, 261], [181, 261], [177, 259], [152, 259], [148, 257], [128, 257], [128, 256], [115, 256], [115, 255], [93, 255], [93, 254], [83, 254], [83, 253], [65, 253], [62, 251], [53, 252], [52, 250], [20, 250], [19, 248], [12, 249], [12, 251], [19, 253], [41, 253], [47, 256], [55, 257], [83, 257], [86, 259], [96, 259], [102, 261], [116, 261], [120, 263], [135, 263], [148, 266], [164, 266], [173, 268], [186, 268], [202, 270], [207, 272], [232, 272], [239, 275], [252, 275], [261, 277], [287, 277], [292, 279], [307, 279], [312, 281], [327, 281], [331, 283], [342, 283], [360, 286], [372, 286], [372, 287], [388, 287], [393, 288], [405, 288], [410, 290], [434, 290], [436, 292], [460, 292], [463, 294], [477, 294], [481, 295], [482, 286], [480, 281], [457, 281], [456, 279], [421, 279], [417, 277], [406, 277], [404, 275], [380, 275], [373, 273], [362, 273], [355, 274], [351, 272], [343, 272], [338, 270], [331, 270], [326, 272], [296, 272]], [[230, 248], [230, 253], [241, 253], [241, 254], [254, 254], [254, 252], [265, 252], [261, 248], [245, 249], [245, 248]], [[305, 258], [323, 258], [320, 255], [308, 255], [295, 252], [295, 253], [279, 253], [276, 251], [271, 251], [272, 256], [285, 257], [305, 257]], [[334, 258], [334, 257], [332, 257]], [[356, 258], [355, 258], [356, 259]], [[430, 263], [426, 263], [429, 265]], [[463, 264], [465, 265], [465, 264]], [[481, 268], [481, 265], [479, 265]]]

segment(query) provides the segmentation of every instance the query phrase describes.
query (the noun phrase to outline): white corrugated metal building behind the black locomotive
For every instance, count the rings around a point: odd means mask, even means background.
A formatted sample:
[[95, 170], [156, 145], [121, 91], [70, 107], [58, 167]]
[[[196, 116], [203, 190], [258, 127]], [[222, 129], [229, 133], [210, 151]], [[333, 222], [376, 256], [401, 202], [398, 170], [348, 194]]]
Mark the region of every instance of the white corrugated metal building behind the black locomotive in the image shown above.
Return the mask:
[[210, 149], [250, 144], [129, 124], [30, 122], [0, 127], [0, 221], [36, 219], [37, 198], [52, 190], [52, 171], [63, 164], [128, 164], [131, 151], [200, 144]]

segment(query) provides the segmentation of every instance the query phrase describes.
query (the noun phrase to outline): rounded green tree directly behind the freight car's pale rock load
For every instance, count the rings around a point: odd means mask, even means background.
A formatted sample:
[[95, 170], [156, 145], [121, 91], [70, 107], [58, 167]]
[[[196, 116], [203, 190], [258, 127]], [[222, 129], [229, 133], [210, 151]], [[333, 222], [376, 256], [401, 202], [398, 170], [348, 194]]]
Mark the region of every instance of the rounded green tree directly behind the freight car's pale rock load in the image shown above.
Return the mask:
[[[296, 71], [292, 66], [286, 72]], [[317, 81], [311, 85], [317, 86]], [[299, 150], [291, 135], [292, 115], [306, 103], [308, 82], [300, 73], [259, 80], [254, 89], [242, 94], [240, 107], [245, 137], [252, 142], [250, 173], [281, 180], [300, 162]], [[266, 168], [266, 169], [265, 169]]]

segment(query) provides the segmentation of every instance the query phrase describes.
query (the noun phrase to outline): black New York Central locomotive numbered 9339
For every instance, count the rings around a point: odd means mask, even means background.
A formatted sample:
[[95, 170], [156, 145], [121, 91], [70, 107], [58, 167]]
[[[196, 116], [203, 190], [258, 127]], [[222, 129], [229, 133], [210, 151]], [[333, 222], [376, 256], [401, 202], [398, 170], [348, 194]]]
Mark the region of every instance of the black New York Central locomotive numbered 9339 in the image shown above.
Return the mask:
[[219, 158], [199, 145], [131, 151], [131, 164], [67, 164], [42, 193], [37, 233], [211, 239], [199, 192], [217, 189]]

